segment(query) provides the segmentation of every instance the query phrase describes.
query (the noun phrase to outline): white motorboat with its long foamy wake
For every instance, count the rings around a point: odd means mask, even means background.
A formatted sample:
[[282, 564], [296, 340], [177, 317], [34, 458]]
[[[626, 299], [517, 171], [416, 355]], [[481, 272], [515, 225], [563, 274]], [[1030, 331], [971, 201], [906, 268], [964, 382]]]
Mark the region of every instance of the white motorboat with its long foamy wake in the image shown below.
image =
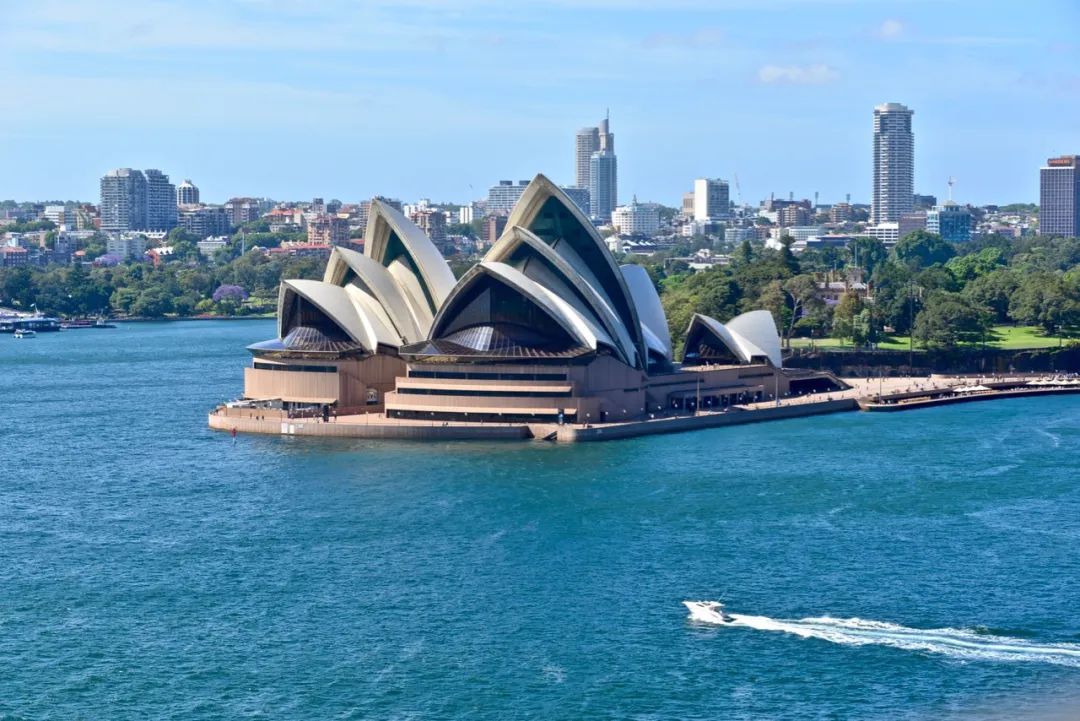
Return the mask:
[[1080, 644], [1037, 643], [1008, 636], [977, 634], [964, 628], [910, 628], [863, 618], [831, 618], [828, 616], [783, 620], [731, 613], [730, 623], [716, 614], [694, 613], [700, 623], [780, 631], [801, 638], [815, 638], [847, 645], [888, 645], [905, 651], [937, 653], [964, 661], [999, 661], [1044, 663], [1080, 668]]

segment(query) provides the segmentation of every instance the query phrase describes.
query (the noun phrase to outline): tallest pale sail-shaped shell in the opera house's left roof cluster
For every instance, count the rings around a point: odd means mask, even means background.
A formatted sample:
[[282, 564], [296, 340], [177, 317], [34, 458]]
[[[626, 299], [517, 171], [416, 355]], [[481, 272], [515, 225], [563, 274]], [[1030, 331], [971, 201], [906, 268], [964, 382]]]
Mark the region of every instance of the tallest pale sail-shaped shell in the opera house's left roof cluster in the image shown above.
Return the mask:
[[395, 207], [372, 201], [364, 255], [386, 267], [410, 300], [434, 316], [454, 289], [454, 273], [431, 239]]

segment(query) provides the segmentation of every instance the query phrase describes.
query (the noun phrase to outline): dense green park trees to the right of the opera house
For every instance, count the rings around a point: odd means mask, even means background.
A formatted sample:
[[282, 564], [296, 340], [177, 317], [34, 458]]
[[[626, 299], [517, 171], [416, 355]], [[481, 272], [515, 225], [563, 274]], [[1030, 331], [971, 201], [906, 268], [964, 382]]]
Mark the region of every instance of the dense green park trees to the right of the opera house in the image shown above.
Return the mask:
[[[799, 256], [789, 239], [775, 250], [747, 241], [729, 264], [702, 272], [678, 260], [694, 249], [629, 258], [652, 276], [675, 339], [694, 313], [723, 319], [754, 309], [772, 312], [785, 343], [832, 337], [866, 345], [914, 334], [924, 348], [955, 348], [988, 340], [996, 324], [1038, 326], [1048, 336], [1080, 327], [1078, 239], [989, 235], [949, 244], [915, 231], [892, 249], [860, 237]], [[831, 302], [823, 287], [829, 278], [855, 283]]]

